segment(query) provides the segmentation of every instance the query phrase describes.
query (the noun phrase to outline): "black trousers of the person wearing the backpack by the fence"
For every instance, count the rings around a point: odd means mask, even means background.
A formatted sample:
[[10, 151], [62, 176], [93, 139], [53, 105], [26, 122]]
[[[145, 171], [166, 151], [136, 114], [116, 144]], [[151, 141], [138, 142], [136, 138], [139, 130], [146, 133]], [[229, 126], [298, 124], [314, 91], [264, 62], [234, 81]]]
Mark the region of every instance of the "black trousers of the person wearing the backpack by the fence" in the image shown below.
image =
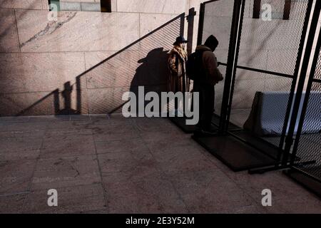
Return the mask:
[[200, 121], [198, 127], [203, 130], [210, 130], [212, 116], [214, 113], [215, 88], [214, 86], [194, 82], [194, 92], [200, 95]]

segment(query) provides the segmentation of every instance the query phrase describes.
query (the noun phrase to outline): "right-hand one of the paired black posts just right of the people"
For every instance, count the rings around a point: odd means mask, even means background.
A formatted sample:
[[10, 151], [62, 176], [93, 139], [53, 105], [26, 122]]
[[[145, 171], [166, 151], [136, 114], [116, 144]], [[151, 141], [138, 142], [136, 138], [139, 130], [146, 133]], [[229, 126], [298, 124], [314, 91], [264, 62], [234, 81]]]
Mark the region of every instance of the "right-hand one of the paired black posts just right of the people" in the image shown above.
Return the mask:
[[235, 86], [235, 79], [236, 79], [236, 67], [238, 66], [238, 54], [240, 51], [240, 38], [242, 35], [244, 10], [245, 10], [245, 0], [242, 1], [242, 8], [240, 11], [240, 20], [239, 20], [239, 24], [238, 24], [238, 34], [237, 34], [238, 41], [237, 41], [236, 47], [235, 47], [235, 61], [234, 61], [234, 67], [233, 67], [232, 85], [230, 87], [230, 100], [228, 102], [228, 111], [227, 111], [227, 118], [226, 118], [226, 124], [225, 124], [225, 132], [228, 131], [228, 125], [230, 123], [230, 112], [231, 112], [232, 103], [233, 103], [234, 86]]

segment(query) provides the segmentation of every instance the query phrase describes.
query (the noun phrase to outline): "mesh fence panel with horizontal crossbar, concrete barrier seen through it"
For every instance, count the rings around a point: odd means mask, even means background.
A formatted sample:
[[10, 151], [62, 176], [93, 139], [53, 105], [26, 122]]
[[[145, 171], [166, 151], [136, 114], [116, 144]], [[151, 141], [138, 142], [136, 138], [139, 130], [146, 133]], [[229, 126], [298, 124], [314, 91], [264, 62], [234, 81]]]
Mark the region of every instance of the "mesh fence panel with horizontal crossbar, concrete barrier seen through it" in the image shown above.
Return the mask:
[[268, 147], [264, 152], [276, 159], [289, 130], [311, 9], [312, 0], [254, 1], [240, 19], [224, 130], [236, 125], [230, 133], [258, 149]]

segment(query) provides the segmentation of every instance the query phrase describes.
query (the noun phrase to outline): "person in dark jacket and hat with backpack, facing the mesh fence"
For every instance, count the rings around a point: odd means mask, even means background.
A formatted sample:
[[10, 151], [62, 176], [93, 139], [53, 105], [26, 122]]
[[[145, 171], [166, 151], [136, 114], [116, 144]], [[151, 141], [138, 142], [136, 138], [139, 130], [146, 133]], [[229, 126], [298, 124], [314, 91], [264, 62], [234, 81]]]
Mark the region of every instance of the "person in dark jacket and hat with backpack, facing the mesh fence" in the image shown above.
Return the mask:
[[[200, 76], [194, 81], [193, 91], [200, 94], [200, 133], [213, 134], [211, 130], [214, 112], [215, 85], [223, 81], [223, 75], [218, 70], [218, 61], [213, 53], [218, 47], [218, 39], [211, 35], [204, 45], [196, 47], [196, 52], [202, 52]], [[198, 132], [199, 132], [198, 131]]]

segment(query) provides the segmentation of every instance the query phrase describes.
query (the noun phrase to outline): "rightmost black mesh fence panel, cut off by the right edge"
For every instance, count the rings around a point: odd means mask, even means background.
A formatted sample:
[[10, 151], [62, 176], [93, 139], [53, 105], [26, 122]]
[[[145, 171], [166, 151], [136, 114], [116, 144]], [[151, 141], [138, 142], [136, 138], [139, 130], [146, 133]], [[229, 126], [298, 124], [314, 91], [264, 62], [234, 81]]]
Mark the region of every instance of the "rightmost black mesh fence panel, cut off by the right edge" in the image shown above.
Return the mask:
[[[317, 27], [315, 24], [319, 19], [320, 11], [321, 2], [317, 1], [315, 14], [312, 18], [313, 28]], [[317, 41], [317, 44], [313, 53], [310, 74], [307, 74], [308, 77], [302, 74], [297, 86], [297, 90], [302, 90], [302, 93], [298, 93], [295, 100], [295, 108], [297, 109], [292, 115], [292, 129], [294, 123], [297, 122], [294, 120], [300, 117], [300, 121], [297, 126], [295, 143], [290, 153], [292, 170], [286, 173], [321, 197], [321, 33], [320, 28], [318, 30], [316, 36], [317, 29], [310, 30], [307, 41], [307, 48], [311, 49], [307, 49], [303, 69], [308, 69], [310, 66], [313, 41]], [[287, 147], [290, 148], [291, 145], [289, 144]]]

